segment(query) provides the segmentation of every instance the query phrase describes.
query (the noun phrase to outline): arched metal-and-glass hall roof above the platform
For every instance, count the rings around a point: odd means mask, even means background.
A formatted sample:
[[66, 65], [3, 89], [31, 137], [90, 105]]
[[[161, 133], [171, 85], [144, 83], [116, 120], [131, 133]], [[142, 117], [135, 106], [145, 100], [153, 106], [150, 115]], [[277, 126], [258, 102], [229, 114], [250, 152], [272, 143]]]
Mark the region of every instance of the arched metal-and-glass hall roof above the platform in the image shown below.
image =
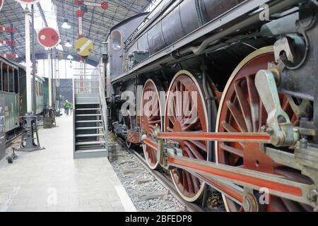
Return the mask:
[[[104, 0], [85, 0], [101, 4]], [[106, 1], [106, 0], [105, 0]], [[154, 0], [153, 0], [154, 1]], [[114, 25], [126, 18], [143, 13], [145, 9], [153, 4], [151, 0], [107, 0], [108, 8], [104, 10], [99, 6], [86, 6], [83, 16], [83, 36], [88, 37], [95, 44], [93, 54], [88, 57], [88, 64], [96, 65], [102, 53], [102, 42], [106, 41], [107, 35]], [[49, 4], [51, 6], [49, 6]], [[78, 59], [74, 47], [65, 47], [69, 40], [74, 44], [78, 39], [78, 18], [76, 11], [79, 6], [73, 0], [45, 0], [35, 5], [35, 32], [46, 26], [59, 30], [61, 37], [60, 45], [57, 47], [63, 53], [63, 58], [71, 54], [74, 60]], [[14, 25], [14, 40], [16, 41], [15, 52], [17, 61], [25, 59], [25, 17], [23, 6], [15, 0], [4, 0], [4, 6], [0, 13], [0, 26], [8, 27]], [[70, 29], [61, 28], [65, 20], [68, 20]], [[54, 21], [53, 21], [54, 20]], [[35, 33], [35, 35], [37, 35]], [[37, 37], [37, 36], [36, 36]], [[11, 32], [0, 31], [0, 40], [11, 40]], [[35, 41], [37, 59], [45, 59], [47, 50]], [[2, 44], [0, 54], [11, 54], [11, 46]]]

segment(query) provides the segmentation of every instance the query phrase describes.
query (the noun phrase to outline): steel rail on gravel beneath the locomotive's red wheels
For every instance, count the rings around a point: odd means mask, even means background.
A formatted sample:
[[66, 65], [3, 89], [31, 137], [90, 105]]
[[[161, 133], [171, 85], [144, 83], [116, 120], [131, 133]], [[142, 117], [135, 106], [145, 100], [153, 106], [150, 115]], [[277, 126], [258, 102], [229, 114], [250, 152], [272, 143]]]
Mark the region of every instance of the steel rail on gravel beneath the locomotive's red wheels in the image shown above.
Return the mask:
[[126, 147], [126, 143], [122, 138], [117, 137], [117, 141], [120, 145], [122, 145], [122, 147], [125, 150], [127, 150], [129, 153], [134, 155], [141, 162], [143, 167], [145, 167], [147, 169], [147, 171], [155, 178], [155, 180], [160, 182], [160, 184], [162, 184], [165, 187], [165, 189], [170, 191], [170, 194], [172, 194], [172, 196], [174, 196], [177, 199], [177, 201], [179, 201], [179, 203], [181, 203], [183, 206], [185, 206], [189, 212], [215, 211], [215, 210], [211, 210], [211, 209], [207, 209], [207, 208], [202, 208], [201, 206], [197, 205], [196, 203], [189, 203], [187, 201], [184, 201], [182, 196], [180, 196], [179, 193], [177, 192], [177, 190], [175, 189], [175, 185], [170, 181], [170, 177], [167, 177], [167, 176], [161, 174], [161, 172], [159, 172], [157, 170], [151, 169], [151, 167], [148, 166], [148, 164], [143, 156], [141, 156], [136, 150]]

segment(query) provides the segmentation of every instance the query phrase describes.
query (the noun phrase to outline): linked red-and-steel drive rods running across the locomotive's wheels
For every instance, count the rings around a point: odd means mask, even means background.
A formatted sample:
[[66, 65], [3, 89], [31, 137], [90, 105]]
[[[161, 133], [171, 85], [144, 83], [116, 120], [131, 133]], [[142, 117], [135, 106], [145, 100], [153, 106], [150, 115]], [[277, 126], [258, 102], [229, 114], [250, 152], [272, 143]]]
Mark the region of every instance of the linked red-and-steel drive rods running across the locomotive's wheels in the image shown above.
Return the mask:
[[[254, 134], [254, 135], [252, 135]], [[169, 135], [169, 136], [168, 136]], [[255, 190], [266, 188], [268, 193], [282, 198], [288, 198], [293, 201], [306, 203], [316, 207], [317, 201], [312, 201], [308, 197], [312, 190], [310, 184], [302, 184], [281, 176], [257, 172], [251, 169], [240, 169], [215, 162], [206, 162], [205, 160], [196, 160], [182, 156], [171, 150], [165, 150], [163, 139], [192, 139], [203, 140], [213, 139], [213, 141], [249, 141], [269, 143], [270, 138], [266, 133], [157, 133], [156, 138], [159, 141], [143, 136], [144, 145], [148, 145], [157, 151], [157, 157], [160, 159], [160, 165], [167, 169], [177, 167], [185, 169], [192, 174], [196, 174], [201, 180], [223, 192], [233, 201], [240, 203], [242, 193], [237, 191], [235, 186], [243, 186]], [[237, 140], [239, 139], [239, 140]], [[222, 189], [220, 189], [220, 187]], [[226, 191], [226, 192], [224, 192]]]

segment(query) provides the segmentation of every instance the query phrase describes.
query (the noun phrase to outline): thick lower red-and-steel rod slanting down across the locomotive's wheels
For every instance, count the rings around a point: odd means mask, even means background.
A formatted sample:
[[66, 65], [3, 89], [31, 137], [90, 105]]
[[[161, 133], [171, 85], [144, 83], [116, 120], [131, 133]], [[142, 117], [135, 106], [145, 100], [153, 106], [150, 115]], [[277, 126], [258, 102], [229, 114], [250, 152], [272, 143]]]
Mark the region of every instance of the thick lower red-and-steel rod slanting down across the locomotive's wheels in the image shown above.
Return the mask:
[[[167, 165], [195, 172], [201, 175], [201, 179], [205, 177], [219, 179], [223, 182], [231, 182], [255, 190], [266, 188], [271, 195], [306, 203], [314, 207], [317, 205], [315, 201], [310, 201], [307, 198], [309, 191], [312, 189], [310, 184], [302, 184], [277, 175], [171, 154], [167, 155]], [[208, 181], [207, 183], [210, 184]], [[223, 185], [226, 186], [227, 184]]]

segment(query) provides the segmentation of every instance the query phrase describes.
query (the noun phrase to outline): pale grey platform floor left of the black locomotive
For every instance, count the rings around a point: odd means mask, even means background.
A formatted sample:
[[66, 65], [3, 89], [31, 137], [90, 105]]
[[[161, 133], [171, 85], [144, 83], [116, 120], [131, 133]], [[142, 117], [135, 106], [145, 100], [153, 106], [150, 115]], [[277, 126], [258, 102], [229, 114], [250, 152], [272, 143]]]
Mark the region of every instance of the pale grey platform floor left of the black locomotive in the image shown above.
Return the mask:
[[0, 211], [136, 211], [107, 158], [73, 160], [72, 117], [41, 129], [45, 150], [0, 162]]

